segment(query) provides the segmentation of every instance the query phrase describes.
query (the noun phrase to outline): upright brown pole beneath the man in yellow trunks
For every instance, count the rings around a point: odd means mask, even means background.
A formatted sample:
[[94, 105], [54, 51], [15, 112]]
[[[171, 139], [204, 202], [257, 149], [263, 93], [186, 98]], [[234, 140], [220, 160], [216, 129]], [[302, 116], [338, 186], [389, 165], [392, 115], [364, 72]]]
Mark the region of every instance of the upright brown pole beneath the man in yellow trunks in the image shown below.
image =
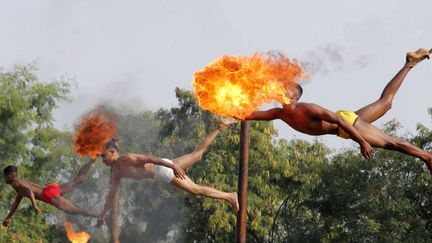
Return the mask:
[[240, 161], [238, 177], [238, 199], [240, 210], [237, 214], [237, 243], [246, 243], [247, 186], [249, 166], [249, 122], [241, 122]]

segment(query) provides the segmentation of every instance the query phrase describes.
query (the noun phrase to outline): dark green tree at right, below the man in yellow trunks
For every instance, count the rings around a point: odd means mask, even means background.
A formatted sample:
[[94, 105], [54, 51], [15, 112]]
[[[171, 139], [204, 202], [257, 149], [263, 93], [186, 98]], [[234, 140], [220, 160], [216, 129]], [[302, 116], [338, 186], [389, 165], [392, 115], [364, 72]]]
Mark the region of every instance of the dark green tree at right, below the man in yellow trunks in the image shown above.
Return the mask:
[[[399, 124], [384, 130], [396, 136]], [[430, 149], [432, 133], [423, 125], [405, 138]], [[319, 184], [299, 207], [282, 210], [281, 242], [430, 242], [430, 173], [422, 161], [376, 149], [365, 160], [357, 148], [332, 156], [315, 168]], [[313, 215], [311, 218], [310, 215]], [[313, 219], [313, 220], [310, 220]], [[300, 220], [309, 221], [298, 224]], [[293, 224], [294, 223], [294, 224]]]

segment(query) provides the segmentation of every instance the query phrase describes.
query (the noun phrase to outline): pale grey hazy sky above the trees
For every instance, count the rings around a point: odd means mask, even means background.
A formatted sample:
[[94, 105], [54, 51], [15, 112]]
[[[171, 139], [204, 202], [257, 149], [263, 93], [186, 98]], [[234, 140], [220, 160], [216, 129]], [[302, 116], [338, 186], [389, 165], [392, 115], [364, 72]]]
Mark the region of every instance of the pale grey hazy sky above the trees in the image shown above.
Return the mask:
[[[0, 0], [0, 66], [36, 61], [44, 80], [75, 78], [56, 112], [70, 128], [104, 101], [134, 109], [176, 105], [175, 87], [224, 54], [277, 50], [309, 63], [303, 101], [356, 110], [380, 95], [405, 53], [432, 48], [432, 1]], [[393, 109], [403, 133], [431, 127], [432, 61], [407, 77]], [[281, 137], [305, 138], [278, 122]], [[331, 147], [351, 143], [324, 136]]]

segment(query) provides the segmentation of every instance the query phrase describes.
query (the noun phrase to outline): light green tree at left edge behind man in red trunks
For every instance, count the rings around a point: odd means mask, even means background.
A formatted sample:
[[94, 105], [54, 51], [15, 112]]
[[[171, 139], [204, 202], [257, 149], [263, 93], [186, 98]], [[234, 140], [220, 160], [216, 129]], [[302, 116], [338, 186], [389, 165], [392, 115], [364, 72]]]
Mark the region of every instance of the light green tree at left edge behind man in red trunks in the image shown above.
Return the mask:
[[[69, 99], [69, 85], [64, 80], [38, 80], [34, 65], [0, 70], [0, 166], [17, 165], [20, 177], [44, 184], [56, 178], [58, 168], [71, 159], [61, 157], [64, 134], [53, 127], [53, 110]], [[0, 214], [5, 217], [15, 193], [9, 186], [0, 190]], [[13, 225], [0, 230], [2, 242], [48, 242], [60, 233], [47, 224], [52, 207], [41, 206], [44, 214], [36, 217], [24, 200]]]

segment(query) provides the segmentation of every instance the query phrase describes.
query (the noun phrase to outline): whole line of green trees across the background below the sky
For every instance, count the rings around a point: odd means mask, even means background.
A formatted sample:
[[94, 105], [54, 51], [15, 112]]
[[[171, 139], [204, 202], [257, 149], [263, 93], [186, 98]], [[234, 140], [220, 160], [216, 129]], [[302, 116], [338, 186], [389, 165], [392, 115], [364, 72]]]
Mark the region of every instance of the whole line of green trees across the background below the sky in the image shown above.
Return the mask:
[[[53, 111], [68, 101], [66, 80], [41, 81], [32, 65], [0, 70], [0, 167], [17, 165], [19, 176], [45, 185], [72, 179], [88, 158], [73, 152], [74, 131], [53, 126]], [[174, 158], [192, 151], [216, 128], [189, 91], [177, 89], [178, 106], [140, 112], [107, 105], [116, 114], [121, 152]], [[89, 110], [92, 107], [89, 107]], [[135, 109], [136, 110], [136, 109]], [[429, 111], [432, 115], [432, 112]], [[78, 121], [76, 121], [78, 122]], [[383, 129], [397, 134], [400, 125]], [[404, 139], [432, 149], [432, 130], [418, 125]], [[237, 189], [239, 125], [224, 130], [201, 162], [187, 171], [198, 184]], [[278, 138], [272, 122], [251, 122], [248, 242], [431, 242], [432, 179], [423, 162], [397, 152], [374, 150], [361, 157], [357, 146], [331, 151], [319, 140]], [[77, 205], [99, 212], [110, 170], [100, 159], [70, 195]], [[1, 183], [0, 217], [15, 192]], [[67, 242], [59, 210], [38, 202], [35, 216], [24, 199], [0, 242]], [[67, 216], [75, 229], [107, 242], [95, 220]], [[233, 242], [235, 215], [227, 203], [194, 197], [153, 180], [123, 180], [122, 242]]]

